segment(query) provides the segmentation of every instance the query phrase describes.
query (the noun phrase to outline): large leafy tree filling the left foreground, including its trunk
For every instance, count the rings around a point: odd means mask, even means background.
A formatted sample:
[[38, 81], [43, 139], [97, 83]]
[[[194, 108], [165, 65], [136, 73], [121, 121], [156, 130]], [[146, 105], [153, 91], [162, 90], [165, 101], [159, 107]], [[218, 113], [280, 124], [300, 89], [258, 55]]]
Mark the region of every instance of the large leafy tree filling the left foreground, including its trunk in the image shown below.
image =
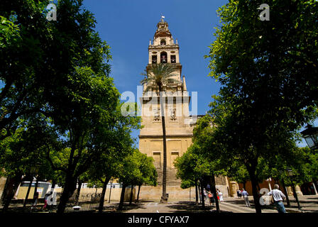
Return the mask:
[[[9, 173], [18, 166], [23, 175], [35, 160], [45, 163], [48, 178], [64, 188], [62, 213], [89, 167], [131, 145], [127, 136], [139, 119], [119, 118], [109, 46], [94, 31], [93, 14], [80, 0], [60, 0], [57, 21], [48, 21], [49, 3], [0, 3], [0, 142], [6, 152], [1, 167]], [[10, 167], [5, 161], [11, 156], [21, 157], [23, 165], [16, 160]]]

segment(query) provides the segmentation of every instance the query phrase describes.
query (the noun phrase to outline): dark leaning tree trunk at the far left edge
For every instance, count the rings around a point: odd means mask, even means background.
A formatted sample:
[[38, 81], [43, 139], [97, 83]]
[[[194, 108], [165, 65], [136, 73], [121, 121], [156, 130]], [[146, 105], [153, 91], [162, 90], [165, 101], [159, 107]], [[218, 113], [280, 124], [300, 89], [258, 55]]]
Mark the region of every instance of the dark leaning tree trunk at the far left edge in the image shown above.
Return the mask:
[[14, 177], [8, 177], [8, 179], [6, 179], [6, 190], [3, 192], [5, 194], [3, 196], [4, 202], [2, 213], [6, 213], [6, 211], [8, 211], [11, 199], [13, 199], [14, 194], [16, 194], [18, 185], [22, 182], [21, 177], [22, 175], [16, 175]]

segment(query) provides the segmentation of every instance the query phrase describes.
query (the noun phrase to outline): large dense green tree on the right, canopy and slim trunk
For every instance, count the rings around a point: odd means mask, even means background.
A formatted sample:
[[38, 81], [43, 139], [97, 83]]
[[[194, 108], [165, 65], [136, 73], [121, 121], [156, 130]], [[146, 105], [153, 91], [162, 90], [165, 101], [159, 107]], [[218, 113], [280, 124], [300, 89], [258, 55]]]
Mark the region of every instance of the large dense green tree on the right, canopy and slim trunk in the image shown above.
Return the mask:
[[268, 1], [270, 21], [261, 21], [259, 1], [229, 1], [217, 12], [221, 26], [210, 46], [210, 75], [221, 84], [212, 111], [216, 141], [228, 160], [246, 166], [253, 186], [263, 160], [287, 157], [295, 131], [317, 106], [317, 2]]

